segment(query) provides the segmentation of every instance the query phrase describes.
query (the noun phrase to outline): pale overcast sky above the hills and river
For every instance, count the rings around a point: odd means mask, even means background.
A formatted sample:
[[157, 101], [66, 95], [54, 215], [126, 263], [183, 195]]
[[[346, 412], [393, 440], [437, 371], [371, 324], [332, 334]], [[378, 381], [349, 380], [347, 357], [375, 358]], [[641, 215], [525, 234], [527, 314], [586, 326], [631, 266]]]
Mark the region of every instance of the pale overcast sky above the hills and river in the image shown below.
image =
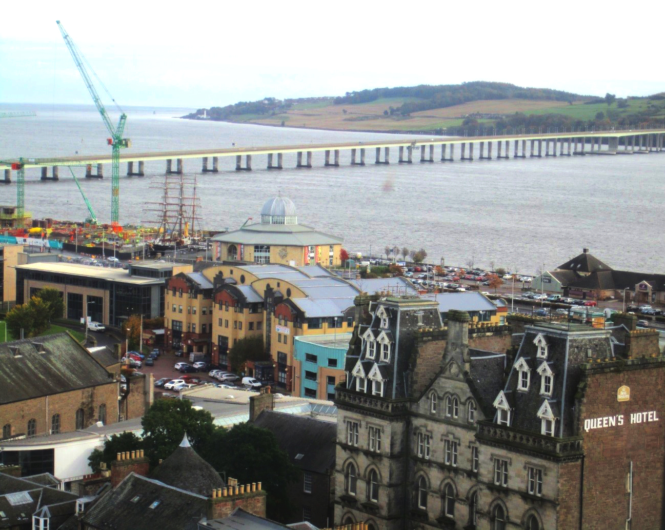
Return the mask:
[[655, 1], [627, 5], [625, 19], [609, 2], [5, 2], [0, 102], [91, 103], [57, 19], [121, 105], [477, 80], [648, 95], [665, 91], [661, 34], [648, 22], [664, 11]]

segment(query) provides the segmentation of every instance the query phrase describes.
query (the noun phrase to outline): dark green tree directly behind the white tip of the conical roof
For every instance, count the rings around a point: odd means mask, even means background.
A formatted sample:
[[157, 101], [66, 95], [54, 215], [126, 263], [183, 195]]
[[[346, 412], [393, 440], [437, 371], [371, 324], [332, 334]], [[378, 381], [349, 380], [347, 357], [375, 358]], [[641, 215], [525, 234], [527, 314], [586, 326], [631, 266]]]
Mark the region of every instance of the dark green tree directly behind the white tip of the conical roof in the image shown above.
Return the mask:
[[194, 449], [199, 449], [215, 429], [210, 413], [192, 408], [189, 399], [158, 399], [144, 414], [141, 425], [143, 448], [151, 465], [173, 453], [185, 433]]

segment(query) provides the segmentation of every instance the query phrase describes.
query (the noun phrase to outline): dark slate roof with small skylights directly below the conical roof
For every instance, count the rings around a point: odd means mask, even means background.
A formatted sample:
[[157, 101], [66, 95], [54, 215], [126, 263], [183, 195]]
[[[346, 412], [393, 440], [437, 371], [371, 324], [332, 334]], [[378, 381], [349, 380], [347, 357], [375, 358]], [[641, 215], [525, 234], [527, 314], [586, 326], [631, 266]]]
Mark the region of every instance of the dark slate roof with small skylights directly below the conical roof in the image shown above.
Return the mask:
[[[182, 478], [182, 477], [181, 477]], [[151, 508], [156, 501], [159, 504]], [[102, 530], [194, 530], [204, 517], [207, 498], [132, 471], [84, 515]]]

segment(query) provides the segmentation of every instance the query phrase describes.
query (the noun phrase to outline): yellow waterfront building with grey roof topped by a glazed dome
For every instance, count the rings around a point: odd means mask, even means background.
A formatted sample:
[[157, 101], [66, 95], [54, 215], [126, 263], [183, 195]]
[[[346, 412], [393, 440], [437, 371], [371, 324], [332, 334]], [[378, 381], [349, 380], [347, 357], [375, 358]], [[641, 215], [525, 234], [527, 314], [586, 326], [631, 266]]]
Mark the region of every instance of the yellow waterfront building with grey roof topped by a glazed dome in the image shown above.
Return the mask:
[[243, 224], [211, 241], [215, 260], [296, 267], [338, 266], [342, 248], [342, 238], [299, 224], [293, 201], [279, 195], [263, 204], [261, 222]]

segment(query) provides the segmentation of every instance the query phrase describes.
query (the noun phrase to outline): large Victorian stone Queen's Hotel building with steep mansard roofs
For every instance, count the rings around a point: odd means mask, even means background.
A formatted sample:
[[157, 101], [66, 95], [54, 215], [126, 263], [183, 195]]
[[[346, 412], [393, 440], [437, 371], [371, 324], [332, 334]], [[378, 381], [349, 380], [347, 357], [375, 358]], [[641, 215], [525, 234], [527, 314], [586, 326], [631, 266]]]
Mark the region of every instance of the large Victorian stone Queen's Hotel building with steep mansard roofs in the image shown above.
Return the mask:
[[519, 348], [496, 348], [505, 326], [478, 329], [452, 311], [446, 340], [428, 342], [432, 310], [379, 300], [354, 332], [336, 389], [336, 523], [662, 526], [657, 333], [628, 327], [618, 342], [610, 330], [535, 322]]

